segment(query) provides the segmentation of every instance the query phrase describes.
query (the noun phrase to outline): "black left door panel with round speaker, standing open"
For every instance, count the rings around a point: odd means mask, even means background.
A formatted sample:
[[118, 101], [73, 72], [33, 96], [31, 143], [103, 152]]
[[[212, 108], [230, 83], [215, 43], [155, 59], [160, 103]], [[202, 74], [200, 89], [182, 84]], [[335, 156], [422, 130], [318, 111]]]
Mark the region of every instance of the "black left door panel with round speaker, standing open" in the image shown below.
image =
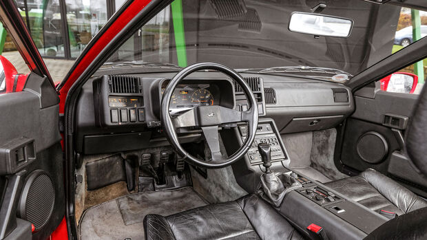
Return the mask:
[[46, 239], [63, 219], [58, 103], [49, 80], [37, 74], [23, 91], [0, 95], [0, 239]]

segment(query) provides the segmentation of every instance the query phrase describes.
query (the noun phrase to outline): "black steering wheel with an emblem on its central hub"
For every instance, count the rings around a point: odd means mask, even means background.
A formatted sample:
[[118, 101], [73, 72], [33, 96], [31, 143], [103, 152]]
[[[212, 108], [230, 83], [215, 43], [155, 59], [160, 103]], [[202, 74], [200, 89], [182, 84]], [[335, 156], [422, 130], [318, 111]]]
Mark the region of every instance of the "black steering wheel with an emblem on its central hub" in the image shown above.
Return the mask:
[[[176, 85], [178, 85], [178, 83], [180, 83], [189, 74], [202, 69], [213, 69], [226, 74], [233, 80], [236, 80], [248, 98], [249, 109], [247, 111], [236, 111], [222, 106], [199, 106], [172, 118], [169, 114], [169, 103], [172, 95], [174, 94]], [[196, 63], [178, 72], [178, 74], [176, 74], [176, 76], [174, 76], [167, 85], [163, 94], [160, 118], [167, 139], [176, 152], [183, 157], [183, 160], [187, 161], [189, 164], [205, 168], [221, 168], [236, 162], [249, 150], [258, 127], [258, 106], [251, 88], [236, 71], [219, 63]], [[247, 122], [247, 136], [236, 153], [224, 158], [220, 152], [218, 127], [221, 127], [224, 124], [237, 122]], [[194, 157], [187, 153], [187, 151], [183, 149], [183, 146], [181, 146], [180, 142], [178, 142], [176, 129], [188, 127], [200, 127], [202, 129], [207, 145], [211, 150], [210, 160], [205, 161]]]

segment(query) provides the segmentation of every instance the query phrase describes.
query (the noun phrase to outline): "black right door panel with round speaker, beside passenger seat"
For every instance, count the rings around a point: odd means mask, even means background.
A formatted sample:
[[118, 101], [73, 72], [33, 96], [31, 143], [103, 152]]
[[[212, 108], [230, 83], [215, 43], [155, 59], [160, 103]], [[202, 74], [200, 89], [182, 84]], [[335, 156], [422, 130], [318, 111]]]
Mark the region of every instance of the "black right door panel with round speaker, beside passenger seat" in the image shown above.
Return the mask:
[[[418, 96], [377, 91], [369, 97], [368, 88], [355, 94], [356, 110], [344, 124], [340, 162], [353, 172], [374, 168], [426, 196], [427, 184], [419, 181], [422, 177], [408, 165], [404, 151], [405, 130]], [[387, 116], [395, 120], [393, 126]]]

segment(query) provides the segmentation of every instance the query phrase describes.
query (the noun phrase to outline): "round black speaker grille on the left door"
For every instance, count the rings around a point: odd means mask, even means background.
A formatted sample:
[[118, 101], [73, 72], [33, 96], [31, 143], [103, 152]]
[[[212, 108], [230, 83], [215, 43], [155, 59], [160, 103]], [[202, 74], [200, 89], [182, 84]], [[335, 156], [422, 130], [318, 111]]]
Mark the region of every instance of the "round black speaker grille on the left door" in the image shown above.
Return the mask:
[[[27, 221], [34, 224], [34, 228], [39, 230], [50, 219], [55, 202], [55, 190], [52, 180], [45, 173], [33, 173], [37, 175], [30, 177], [25, 184], [23, 194], [24, 209], [21, 209], [21, 215]], [[24, 214], [22, 214], [24, 213]]]

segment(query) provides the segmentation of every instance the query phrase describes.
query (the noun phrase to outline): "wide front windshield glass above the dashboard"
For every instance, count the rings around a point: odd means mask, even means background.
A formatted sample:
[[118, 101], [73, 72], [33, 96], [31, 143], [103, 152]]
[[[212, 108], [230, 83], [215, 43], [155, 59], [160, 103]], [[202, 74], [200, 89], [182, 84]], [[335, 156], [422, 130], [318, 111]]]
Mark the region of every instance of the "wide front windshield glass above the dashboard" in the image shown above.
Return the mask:
[[[351, 19], [348, 37], [291, 32], [291, 14], [311, 13], [315, 2], [175, 0], [122, 45], [105, 67], [132, 61], [180, 67], [217, 62], [240, 71], [344, 82], [408, 45], [406, 38], [409, 44], [417, 40], [410, 9], [366, 1], [328, 1], [320, 11]], [[420, 39], [427, 15], [417, 14]]]

